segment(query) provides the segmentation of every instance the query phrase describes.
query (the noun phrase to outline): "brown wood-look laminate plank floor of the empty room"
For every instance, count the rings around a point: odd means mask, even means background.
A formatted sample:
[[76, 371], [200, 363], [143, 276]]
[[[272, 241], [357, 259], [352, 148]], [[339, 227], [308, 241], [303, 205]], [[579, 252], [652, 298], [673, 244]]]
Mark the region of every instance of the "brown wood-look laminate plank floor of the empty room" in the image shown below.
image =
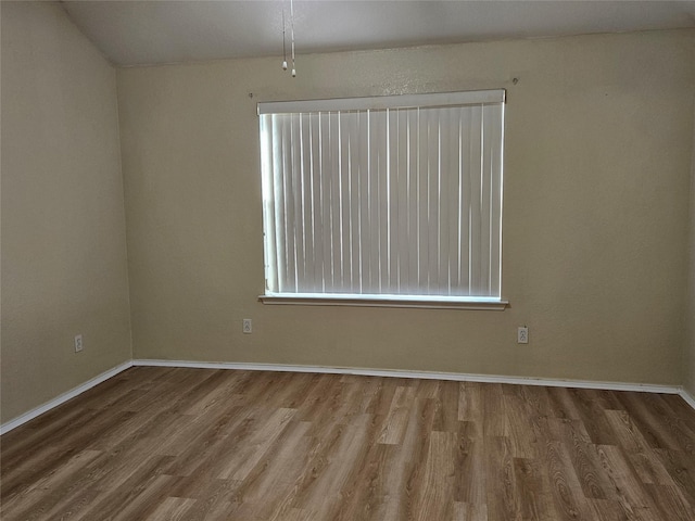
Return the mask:
[[0, 439], [2, 520], [695, 520], [675, 395], [128, 369]]

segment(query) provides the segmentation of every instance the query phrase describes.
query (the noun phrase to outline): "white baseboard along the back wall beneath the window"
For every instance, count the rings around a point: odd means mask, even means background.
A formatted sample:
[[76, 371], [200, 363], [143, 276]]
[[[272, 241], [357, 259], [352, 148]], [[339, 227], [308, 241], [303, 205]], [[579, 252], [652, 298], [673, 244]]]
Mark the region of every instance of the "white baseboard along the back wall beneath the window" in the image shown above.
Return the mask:
[[[276, 364], [206, 363], [189, 360], [132, 360], [134, 366], [190, 367], [199, 369], [238, 369], [245, 371], [318, 372], [329, 374], [358, 374], [367, 377], [422, 378], [427, 380], [453, 380], [457, 382], [509, 383], [518, 385], [545, 385], [551, 387], [597, 389], [606, 391], [636, 391], [644, 393], [681, 394], [673, 385], [645, 383], [596, 382], [587, 380], [553, 380], [544, 378], [504, 377], [460, 372], [404, 371], [395, 369], [356, 369], [350, 367], [292, 366]], [[691, 398], [692, 399], [692, 398]], [[691, 405], [693, 405], [691, 403]], [[694, 406], [695, 408], [695, 406]]]

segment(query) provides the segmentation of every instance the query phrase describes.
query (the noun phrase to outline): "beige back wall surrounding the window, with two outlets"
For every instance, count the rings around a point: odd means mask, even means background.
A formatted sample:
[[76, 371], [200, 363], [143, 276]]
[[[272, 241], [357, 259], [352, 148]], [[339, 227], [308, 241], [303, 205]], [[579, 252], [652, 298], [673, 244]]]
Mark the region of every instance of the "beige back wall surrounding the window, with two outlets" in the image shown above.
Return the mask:
[[[136, 358], [682, 382], [695, 31], [279, 64], [117, 73]], [[257, 302], [257, 101], [500, 87], [509, 309]]]

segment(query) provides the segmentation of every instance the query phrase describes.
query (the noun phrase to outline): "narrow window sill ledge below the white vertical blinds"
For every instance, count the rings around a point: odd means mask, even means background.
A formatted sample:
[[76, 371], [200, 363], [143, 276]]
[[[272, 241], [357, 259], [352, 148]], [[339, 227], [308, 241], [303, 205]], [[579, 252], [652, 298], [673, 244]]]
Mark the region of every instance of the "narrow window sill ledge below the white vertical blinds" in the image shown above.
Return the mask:
[[263, 304], [300, 306], [416, 307], [425, 309], [503, 310], [508, 301], [485, 297], [442, 297], [396, 295], [270, 294], [260, 295]]

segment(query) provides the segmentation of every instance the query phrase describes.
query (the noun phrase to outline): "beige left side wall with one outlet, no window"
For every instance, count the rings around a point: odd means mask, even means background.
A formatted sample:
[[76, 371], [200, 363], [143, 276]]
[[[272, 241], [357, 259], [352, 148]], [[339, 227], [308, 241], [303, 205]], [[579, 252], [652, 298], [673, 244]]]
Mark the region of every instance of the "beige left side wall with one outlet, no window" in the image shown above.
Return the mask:
[[115, 69], [59, 4], [1, 9], [5, 422], [131, 347]]

